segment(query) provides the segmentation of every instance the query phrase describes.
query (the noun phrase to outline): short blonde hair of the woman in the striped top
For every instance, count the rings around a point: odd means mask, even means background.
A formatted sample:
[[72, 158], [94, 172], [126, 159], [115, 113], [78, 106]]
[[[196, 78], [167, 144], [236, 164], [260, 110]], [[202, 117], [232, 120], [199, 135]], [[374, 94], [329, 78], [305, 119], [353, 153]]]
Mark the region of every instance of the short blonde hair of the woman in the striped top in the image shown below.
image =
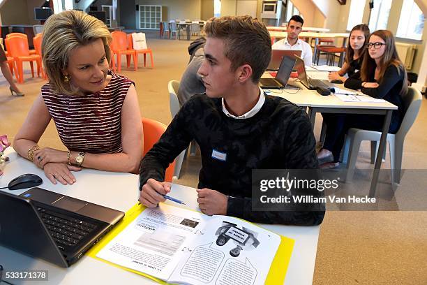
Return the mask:
[[71, 51], [98, 39], [103, 41], [105, 57], [110, 62], [111, 34], [96, 17], [82, 11], [68, 10], [47, 19], [43, 30], [42, 57], [53, 92], [66, 95], [79, 92], [70, 82], [64, 81], [63, 71], [68, 66]]

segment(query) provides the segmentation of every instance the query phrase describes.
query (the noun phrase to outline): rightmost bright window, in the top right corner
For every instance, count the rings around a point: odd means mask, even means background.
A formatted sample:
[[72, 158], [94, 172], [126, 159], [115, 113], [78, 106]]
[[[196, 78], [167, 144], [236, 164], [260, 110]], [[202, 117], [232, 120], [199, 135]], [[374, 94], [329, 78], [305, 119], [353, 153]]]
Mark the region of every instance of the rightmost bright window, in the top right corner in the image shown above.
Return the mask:
[[424, 14], [417, 6], [417, 3], [414, 3], [414, 0], [403, 0], [396, 36], [421, 40], [423, 29]]

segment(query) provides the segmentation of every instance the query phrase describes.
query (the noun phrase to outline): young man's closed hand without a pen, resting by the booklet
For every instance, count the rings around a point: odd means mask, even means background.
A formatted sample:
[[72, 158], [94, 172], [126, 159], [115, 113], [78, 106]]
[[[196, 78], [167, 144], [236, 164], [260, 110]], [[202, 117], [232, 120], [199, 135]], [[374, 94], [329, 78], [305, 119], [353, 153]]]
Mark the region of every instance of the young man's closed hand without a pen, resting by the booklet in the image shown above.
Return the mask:
[[197, 189], [197, 203], [204, 214], [227, 214], [228, 196], [211, 189]]

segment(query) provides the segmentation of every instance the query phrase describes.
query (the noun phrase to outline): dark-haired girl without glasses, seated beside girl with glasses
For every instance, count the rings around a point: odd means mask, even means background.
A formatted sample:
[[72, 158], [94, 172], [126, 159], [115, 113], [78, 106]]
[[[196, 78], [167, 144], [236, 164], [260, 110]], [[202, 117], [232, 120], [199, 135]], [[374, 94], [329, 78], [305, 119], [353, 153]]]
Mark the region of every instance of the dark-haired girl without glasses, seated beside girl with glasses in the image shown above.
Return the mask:
[[338, 72], [329, 73], [329, 80], [341, 80], [345, 82], [347, 78], [344, 76], [346, 73], [350, 77], [360, 70], [361, 61], [364, 59], [366, 52], [366, 40], [370, 34], [367, 24], [358, 24], [350, 31], [350, 43], [347, 45], [345, 51], [345, 60], [343, 67]]

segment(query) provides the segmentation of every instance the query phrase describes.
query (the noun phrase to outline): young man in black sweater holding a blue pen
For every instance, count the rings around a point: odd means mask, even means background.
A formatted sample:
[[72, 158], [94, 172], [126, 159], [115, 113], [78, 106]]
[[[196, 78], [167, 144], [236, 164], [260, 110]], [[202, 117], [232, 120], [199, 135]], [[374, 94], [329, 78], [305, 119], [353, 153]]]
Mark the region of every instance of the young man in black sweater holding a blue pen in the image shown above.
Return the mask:
[[206, 94], [185, 103], [144, 156], [140, 202], [156, 207], [170, 191], [165, 168], [195, 139], [202, 170], [197, 202], [205, 214], [267, 224], [317, 225], [324, 212], [252, 210], [252, 170], [315, 169], [315, 139], [306, 112], [258, 87], [271, 58], [269, 33], [250, 16], [212, 18], [200, 66]]

